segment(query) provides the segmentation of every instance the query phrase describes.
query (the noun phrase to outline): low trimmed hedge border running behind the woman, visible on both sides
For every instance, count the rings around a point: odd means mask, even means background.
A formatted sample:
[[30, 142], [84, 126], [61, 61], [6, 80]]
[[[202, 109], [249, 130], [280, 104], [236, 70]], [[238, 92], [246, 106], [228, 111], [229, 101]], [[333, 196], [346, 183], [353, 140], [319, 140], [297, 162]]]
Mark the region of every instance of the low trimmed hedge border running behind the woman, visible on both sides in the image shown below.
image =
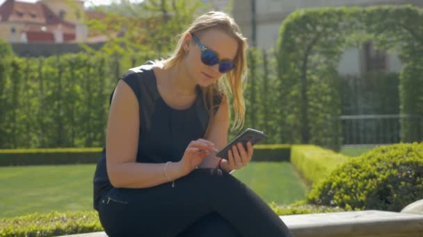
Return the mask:
[[[102, 148], [0, 150], [0, 166], [95, 164]], [[253, 161], [289, 161], [289, 145], [256, 145]]]

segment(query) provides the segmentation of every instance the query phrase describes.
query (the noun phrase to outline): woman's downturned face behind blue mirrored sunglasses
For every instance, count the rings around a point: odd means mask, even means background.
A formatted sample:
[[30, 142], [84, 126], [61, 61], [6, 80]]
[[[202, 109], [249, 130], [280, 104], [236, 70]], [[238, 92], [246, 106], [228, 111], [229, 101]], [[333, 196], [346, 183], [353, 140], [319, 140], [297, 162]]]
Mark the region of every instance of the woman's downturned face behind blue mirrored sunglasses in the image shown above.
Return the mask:
[[[201, 35], [195, 36], [207, 49], [214, 51], [219, 60], [234, 61], [238, 44], [237, 40], [234, 40], [230, 35], [223, 33], [221, 30], [210, 29]], [[193, 40], [191, 35], [186, 36], [184, 49], [189, 51], [184, 61], [189, 76], [194, 80], [195, 84], [200, 85], [200, 87], [207, 87], [221, 78], [223, 74], [219, 72], [219, 64], [209, 66], [201, 61], [200, 46]]]

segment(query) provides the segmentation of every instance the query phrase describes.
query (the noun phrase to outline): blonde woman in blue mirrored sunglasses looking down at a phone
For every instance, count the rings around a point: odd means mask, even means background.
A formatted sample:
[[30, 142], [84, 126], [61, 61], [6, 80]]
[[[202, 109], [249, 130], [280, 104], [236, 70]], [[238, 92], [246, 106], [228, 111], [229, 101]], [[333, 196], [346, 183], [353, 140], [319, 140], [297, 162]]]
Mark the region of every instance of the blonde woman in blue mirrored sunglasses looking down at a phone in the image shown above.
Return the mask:
[[246, 39], [223, 12], [208, 12], [163, 61], [129, 69], [111, 95], [94, 208], [109, 236], [291, 236], [231, 170], [253, 156], [227, 143], [229, 102], [244, 121]]

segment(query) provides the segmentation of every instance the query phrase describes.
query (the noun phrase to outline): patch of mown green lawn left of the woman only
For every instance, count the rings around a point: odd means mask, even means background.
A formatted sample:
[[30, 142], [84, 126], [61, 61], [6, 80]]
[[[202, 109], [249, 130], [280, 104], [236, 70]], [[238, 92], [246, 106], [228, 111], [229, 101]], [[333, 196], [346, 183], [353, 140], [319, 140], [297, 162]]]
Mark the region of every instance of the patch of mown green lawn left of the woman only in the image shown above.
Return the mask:
[[95, 166], [0, 167], [0, 217], [92, 210]]

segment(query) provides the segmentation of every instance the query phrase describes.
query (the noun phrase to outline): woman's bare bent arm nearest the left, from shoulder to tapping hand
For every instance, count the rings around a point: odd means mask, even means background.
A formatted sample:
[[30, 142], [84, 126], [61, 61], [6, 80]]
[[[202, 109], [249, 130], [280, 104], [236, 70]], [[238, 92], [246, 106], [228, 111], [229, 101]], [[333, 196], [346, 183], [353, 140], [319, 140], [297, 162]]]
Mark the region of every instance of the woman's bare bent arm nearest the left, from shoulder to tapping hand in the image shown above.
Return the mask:
[[[190, 156], [188, 153], [210, 149], [206, 142], [195, 141], [190, 143], [191, 149], [187, 149], [184, 154], [191, 158], [190, 161], [184, 159], [184, 164], [181, 161], [167, 166], [137, 163], [139, 126], [138, 100], [131, 87], [124, 80], [119, 80], [111, 101], [106, 132], [107, 173], [114, 187], [146, 188], [169, 182], [169, 179], [177, 179], [198, 166], [200, 161], [197, 162], [196, 159], [204, 158], [202, 155]], [[169, 179], [165, 174], [165, 166]]]

